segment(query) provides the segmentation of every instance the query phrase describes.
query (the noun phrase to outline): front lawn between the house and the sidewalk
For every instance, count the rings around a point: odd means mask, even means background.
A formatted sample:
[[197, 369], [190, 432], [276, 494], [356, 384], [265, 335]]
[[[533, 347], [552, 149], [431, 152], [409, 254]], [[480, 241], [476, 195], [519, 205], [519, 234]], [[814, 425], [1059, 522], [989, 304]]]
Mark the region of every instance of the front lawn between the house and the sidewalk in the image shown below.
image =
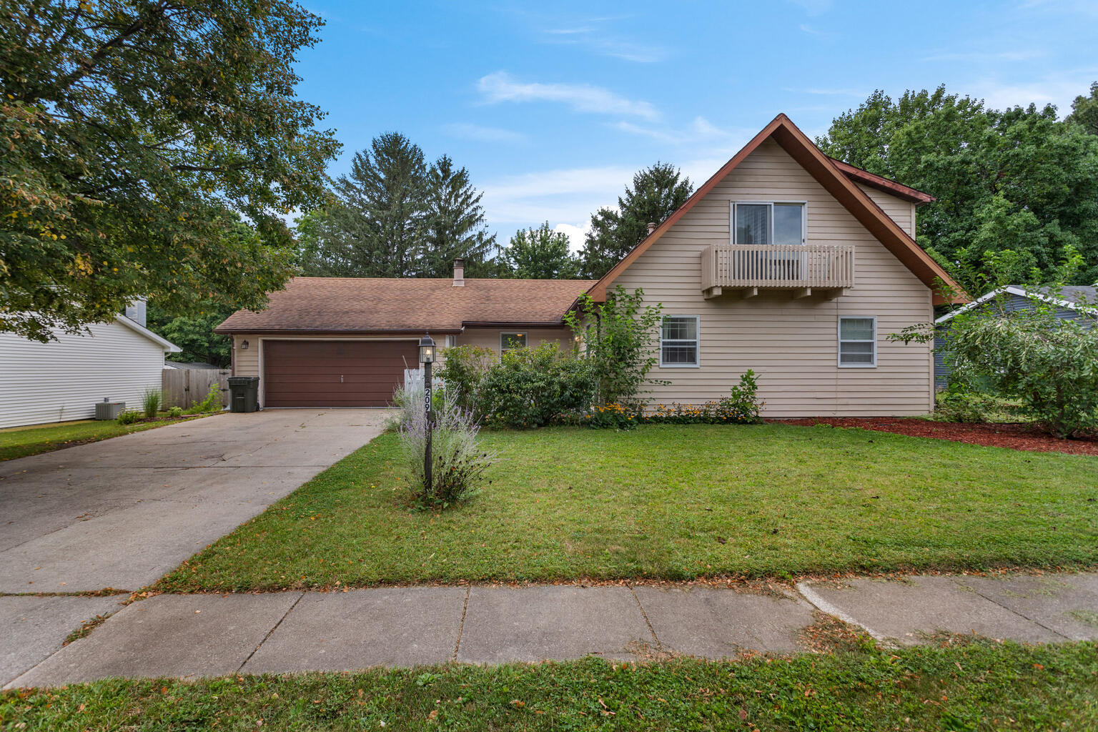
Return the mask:
[[470, 504], [408, 509], [382, 435], [168, 592], [1098, 563], [1098, 460], [829, 427], [489, 432]]

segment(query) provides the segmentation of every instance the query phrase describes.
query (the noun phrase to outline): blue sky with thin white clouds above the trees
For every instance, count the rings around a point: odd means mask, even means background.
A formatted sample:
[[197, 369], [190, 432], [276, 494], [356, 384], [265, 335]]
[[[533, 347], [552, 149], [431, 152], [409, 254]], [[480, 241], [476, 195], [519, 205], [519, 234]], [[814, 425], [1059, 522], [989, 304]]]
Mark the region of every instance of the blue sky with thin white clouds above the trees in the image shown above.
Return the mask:
[[1098, 0], [467, 3], [305, 0], [301, 95], [354, 151], [400, 131], [469, 169], [501, 244], [578, 248], [657, 160], [701, 184], [778, 112], [809, 135], [874, 89], [945, 83], [1061, 114], [1098, 80]]

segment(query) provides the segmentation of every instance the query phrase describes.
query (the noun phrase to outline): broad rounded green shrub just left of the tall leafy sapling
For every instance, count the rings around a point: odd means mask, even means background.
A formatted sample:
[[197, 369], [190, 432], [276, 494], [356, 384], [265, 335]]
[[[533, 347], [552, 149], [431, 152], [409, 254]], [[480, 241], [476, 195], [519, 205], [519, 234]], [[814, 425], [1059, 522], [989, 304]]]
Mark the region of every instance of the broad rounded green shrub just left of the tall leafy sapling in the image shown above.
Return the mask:
[[493, 427], [542, 427], [562, 413], [586, 412], [595, 390], [589, 359], [551, 341], [513, 348], [484, 373], [475, 393], [477, 414]]

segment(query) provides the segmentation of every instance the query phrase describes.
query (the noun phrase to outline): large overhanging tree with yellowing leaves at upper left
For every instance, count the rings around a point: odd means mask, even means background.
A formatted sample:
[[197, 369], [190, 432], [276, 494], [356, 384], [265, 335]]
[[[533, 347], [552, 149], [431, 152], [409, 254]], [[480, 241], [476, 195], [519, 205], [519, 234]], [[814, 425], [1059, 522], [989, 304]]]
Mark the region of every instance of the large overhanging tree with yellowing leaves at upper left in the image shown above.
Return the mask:
[[[47, 340], [147, 295], [258, 307], [291, 272], [281, 216], [338, 150], [295, 97], [321, 20], [294, 2], [5, 3], [0, 330]], [[259, 237], [225, 236], [247, 217]]]

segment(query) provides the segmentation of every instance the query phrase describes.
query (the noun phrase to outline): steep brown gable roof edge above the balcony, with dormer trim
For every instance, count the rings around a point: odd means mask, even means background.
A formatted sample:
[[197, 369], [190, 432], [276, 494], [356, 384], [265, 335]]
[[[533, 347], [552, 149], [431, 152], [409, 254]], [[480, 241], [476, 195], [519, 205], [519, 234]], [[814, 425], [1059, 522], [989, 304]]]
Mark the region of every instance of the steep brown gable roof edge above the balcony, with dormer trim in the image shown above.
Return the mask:
[[[686, 199], [686, 202], [679, 206], [674, 213], [668, 216], [663, 222], [656, 227], [656, 230], [645, 237], [640, 244], [632, 248], [632, 250], [626, 255], [621, 261], [614, 266], [614, 268], [603, 277], [589, 293], [596, 301], [603, 301], [606, 299], [606, 292], [614, 280], [618, 278], [632, 262], [637, 260], [640, 255], [645, 254], [653, 244], [656, 244], [661, 236], [663, 236], [674, 224], [686, 214], [687, 211], [697, 205], [697, 202], [706, 196], [706, 194], [712, 191], [717, 183], [725, 179], [728, 173], [736, 169], [749, 155], [751, 155], [755, 148], [758, 148], [764, 140], [774, 138], [782, 149], [789, 154], [789, 156], [796, 160], [802, 168], [808, 171], [808, 173], [816, 179], [816, 181], [824, 187], [839, 203], [841, 203], [847, 211], [853, 214], [856, 218], [873, 236], [875, 236], [881, 244], [885, 246], [893, 255], [896, 256], [911, 272], [922, 281], [928, 288], [935, 290], [934, 292], [934, 304], [942, 304], [945, 301], [938, 292], [938, 280], [942, 280], [951, 289], [956, 292], [961, 292], [960, 285], [957, 285], [953, 279], [941, 268], [941, 266], [931, 259], [930, 255], [923, 251], [922, 247], [915, 243], [915, 239], [908, 235], [903, 228], [899, 227], [892, 217], [888, 216], [884, 211], [881, 210], [876, 203], [870, 199], [858, 185], [851, 180], [854, 172], [845, 173], [843, 170], [836, 165], [836, 160], [824, 155], [816, 145], [808, 139], [808, 137], [797, 128], [795, 124], [789, 120], [789, 117], [784, 114], [778, 114], [771, 121], [762, 131], [751, 138], [747, 145], [743, 146], [739, 153], [732, 156], [732, 158], [721, 166], [720, 170], [713, 174], [709, 180], [705, 181], [693, 195]], [[853, 171], [860, 171], [859, 168], [849, 166]], [[873, 176], [873, 173], [867, 173], [864, 170], [860, 171], [864, 177], [872, 178], [877, 185], [885, 185], [886, 183], [894, 183], [887, 178], [882, 178], [879, 176]], [[863, 180], [864, 184], [869, 185], [866, 182], [869, 179]], [[883, 181], [883, 182], [882, 182]], [[899, 185], [899, 183], [894, 183]], [[903, 187], [907, 188], [907, 187]], [[915, 191], [915, 189], [907, 189], [914, 191], [915, 193], [921, 193], [920, 191]], [[894, 191], [888, 191], [894, 193]], [[911, 194], [914, 195], [914, 193]], [[926, 196], [925, 193], [922, 193]], [[967, 302], [967, 300], [960, 300], [959, 302]]]

